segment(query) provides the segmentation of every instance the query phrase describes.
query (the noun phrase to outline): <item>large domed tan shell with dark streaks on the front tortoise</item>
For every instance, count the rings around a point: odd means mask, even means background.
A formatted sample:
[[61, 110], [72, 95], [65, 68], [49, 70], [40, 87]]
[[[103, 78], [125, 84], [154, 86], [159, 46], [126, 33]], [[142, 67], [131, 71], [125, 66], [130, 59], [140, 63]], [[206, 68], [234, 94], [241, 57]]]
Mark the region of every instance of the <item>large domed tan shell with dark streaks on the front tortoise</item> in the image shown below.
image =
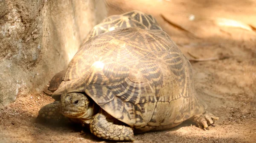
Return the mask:
[[84, 43], [53, 97], [85, 92], [131, 127], [166, 126], [204, 111], [192, 78], [189, 61], [168, 34], [130, 27]]

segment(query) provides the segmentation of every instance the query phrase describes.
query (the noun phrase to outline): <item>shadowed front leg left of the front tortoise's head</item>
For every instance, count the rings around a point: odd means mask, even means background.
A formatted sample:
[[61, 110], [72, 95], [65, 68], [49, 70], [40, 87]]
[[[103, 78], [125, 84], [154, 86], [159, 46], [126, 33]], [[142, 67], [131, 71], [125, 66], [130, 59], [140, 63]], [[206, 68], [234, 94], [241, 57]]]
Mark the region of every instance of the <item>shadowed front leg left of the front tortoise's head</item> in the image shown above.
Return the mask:
[[48, 122], [59, 122], [64, 119], [64, 115], [61, 114], [61, 104], [59, 101], [55, 101], [43, 106], [38, 112], [38, 118], [46, 120]]

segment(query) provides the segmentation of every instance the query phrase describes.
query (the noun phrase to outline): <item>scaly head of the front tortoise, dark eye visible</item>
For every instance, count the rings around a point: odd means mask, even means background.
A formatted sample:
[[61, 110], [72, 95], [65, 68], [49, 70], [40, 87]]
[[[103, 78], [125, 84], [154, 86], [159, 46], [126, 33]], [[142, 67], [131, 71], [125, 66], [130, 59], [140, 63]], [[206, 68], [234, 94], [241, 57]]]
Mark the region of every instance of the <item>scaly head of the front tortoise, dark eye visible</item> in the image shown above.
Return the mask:
[[61, 113], [66, 117], [90, 119], [96, 114], [94, 104], [82, 93], [72, 92], [61, 95]]

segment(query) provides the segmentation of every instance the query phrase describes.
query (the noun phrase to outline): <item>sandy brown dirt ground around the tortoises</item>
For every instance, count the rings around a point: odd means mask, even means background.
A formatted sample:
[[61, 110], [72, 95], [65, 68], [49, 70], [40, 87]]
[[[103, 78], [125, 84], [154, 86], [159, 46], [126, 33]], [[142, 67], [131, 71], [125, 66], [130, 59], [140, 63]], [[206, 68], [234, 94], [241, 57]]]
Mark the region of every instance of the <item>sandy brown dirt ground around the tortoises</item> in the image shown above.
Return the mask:
[[[166, 0], [165, 3], [171, 2]], [[172, 3], [177, 11], [185, 9], [187, 13], [193, 13], [194, 20], [193, 15], [189, 20], [189, 17], [170, 13], [165, 13], [162, 19], [157, 17], [157, 20], [191, 60], [198, 96], [203, 98], [209, 106], [207, 110], [218, 116], [219, 120], [209, 130], [184, 122], [173, 129], [137, 134], [136, 143], [256, 142], [256, 2], [202, 2], [177, 0]], [[194, 8], [186, 9], [186, 6]], [[145, 9], [138, 7], [138, 10]], [[210, 18], [206, 17], [207, 14]], [[217, 17], [240, 21], [240, 28], [237, 28], [239, 24], [228, 26], [227, 23], [232, 23], [230, 20]], [[178, 26], [175, 27], [172, 22]], [[52, 101], [43, 92], [18, 94], [14, 103], [0, 110], [0, 143], [106, 142], [72, 123], [51, 125], [38, 122], [36, 117], [39, 109]]]

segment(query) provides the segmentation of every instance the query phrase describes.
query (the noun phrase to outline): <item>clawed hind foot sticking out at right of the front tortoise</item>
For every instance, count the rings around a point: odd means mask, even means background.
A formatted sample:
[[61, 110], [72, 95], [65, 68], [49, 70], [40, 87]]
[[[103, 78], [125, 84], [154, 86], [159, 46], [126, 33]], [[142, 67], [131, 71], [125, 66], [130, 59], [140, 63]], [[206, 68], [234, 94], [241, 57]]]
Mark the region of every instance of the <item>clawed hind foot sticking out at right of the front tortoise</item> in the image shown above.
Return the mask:
[[218, 119], [218, 117], [207, 111], [204, 111], [203, 114], [195, 115], [192, 117], [192, 121], [195, 122], [201, 129], [207, 128]]

